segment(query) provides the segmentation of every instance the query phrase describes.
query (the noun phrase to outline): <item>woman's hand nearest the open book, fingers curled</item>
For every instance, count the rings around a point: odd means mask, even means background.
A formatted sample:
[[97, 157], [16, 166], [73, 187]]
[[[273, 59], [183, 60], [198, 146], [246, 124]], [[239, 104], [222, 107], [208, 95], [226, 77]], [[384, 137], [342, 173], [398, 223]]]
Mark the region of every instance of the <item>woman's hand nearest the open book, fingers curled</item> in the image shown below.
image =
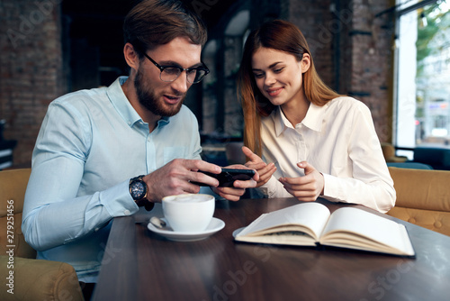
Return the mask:
[[320, 195], [323, 195], [323, 188], [325, 187], [323, 175], [308, 164], [307, 161], [297, 163], [297, 166], [304, 169], [305, 175], [303, 177], [279, 178], [279, 181], [299, 201], [315, 201]]

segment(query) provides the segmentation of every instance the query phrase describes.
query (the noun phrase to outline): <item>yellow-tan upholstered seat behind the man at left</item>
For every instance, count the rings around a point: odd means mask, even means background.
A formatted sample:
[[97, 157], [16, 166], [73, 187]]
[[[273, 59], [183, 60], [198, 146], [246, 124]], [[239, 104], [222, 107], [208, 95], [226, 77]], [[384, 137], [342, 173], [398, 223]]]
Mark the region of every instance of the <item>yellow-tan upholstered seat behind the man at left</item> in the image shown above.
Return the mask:
[[[31, 169], [0, 171], [0, 300], [84, 300], [75, 269], [36, 260], [23, 237], [23, 197]], [[14, 293], [14, 294], [13, 294]]]

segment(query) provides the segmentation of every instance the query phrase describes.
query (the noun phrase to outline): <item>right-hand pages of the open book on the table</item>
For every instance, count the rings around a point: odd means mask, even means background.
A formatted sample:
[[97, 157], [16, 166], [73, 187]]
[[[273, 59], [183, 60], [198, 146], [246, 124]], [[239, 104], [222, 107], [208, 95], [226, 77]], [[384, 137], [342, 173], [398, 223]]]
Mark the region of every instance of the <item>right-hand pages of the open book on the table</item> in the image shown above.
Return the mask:
[[368, 251], [414, 255], [401, 223], [358, 208], [340, 208], [329, 218], [320, 243]]

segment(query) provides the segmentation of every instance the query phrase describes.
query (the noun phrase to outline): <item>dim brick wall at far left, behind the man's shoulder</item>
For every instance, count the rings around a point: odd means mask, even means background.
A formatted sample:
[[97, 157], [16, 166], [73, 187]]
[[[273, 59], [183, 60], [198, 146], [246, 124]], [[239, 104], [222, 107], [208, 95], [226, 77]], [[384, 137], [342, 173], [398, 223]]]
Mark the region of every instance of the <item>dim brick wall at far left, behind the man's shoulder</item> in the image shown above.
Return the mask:
[[0, 119], [17, 140], [14, 164], [28, 165], [49, 102], [64, 93], [59, 3], [0, 2]]

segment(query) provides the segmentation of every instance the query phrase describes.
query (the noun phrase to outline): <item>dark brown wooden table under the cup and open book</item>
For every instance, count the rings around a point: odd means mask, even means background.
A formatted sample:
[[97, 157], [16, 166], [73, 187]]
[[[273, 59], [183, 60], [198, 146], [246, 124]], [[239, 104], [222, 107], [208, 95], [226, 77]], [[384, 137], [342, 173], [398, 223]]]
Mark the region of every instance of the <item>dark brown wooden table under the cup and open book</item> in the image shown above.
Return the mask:
[[115, 218], [94, 300], [450, 300], [450, 237], [387, 215], [407, 226], [416, 259], [233, 241], [260, 214], [295, 204], [217, 201], [225, 228], [200, 242], [171, 242], [132, 216]]

